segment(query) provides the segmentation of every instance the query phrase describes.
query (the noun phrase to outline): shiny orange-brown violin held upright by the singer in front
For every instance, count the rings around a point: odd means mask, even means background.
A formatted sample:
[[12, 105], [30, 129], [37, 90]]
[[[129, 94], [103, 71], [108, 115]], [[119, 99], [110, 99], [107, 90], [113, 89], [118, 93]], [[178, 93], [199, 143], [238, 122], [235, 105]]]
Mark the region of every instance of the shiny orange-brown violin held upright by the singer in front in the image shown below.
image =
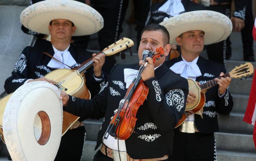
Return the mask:
[[[160, 60], [160, 57], [164, 57], [163, 47], [156, 48], [157, 54], [154, 55], [154, 52], [155, 51], [149, 52], [147, 55], [147, 57], [153, 56], [153, 63], [155, 63], [156, 60]], [[111, 135], [114, 138], [125, 140], [134, 132], [137, 121], [136, 113], [148, 95], [148, 87], [141, 79], [141, 73], [145, 69], [147, 63], [148, 62], [146, 62], [145, 65], [140, 66], [137, 75], [127, 89], [124, 99], [120, 101], [117, 112], [111, 118], [103, 139], [107, 139], [108, 136]]]

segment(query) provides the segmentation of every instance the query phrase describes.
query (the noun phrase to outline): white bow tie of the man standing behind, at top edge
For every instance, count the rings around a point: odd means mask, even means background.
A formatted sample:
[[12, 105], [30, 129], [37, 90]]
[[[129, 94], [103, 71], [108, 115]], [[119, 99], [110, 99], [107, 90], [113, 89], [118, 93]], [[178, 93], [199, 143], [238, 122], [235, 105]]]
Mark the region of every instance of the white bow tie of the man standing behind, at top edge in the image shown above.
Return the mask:
[[164, 12], [171, 16], [176, 16], [181, 12], [184, 12], [184, 6], [181, 3], [181, 0], [168, 0], [165, 2], [158, 11]]

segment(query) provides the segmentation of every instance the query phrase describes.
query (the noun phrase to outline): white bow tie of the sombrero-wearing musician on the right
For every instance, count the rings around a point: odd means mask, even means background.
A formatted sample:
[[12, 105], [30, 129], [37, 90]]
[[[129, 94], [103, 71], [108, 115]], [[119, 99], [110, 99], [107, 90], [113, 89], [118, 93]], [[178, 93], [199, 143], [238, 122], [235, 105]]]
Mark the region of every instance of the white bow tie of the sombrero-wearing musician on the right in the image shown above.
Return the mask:
[[[183, 71], [187, 67], [187, 71], [184, 74]], [[170, 69], [176, 74], [180, 74], [184, 78], [196, 78], [202, 76], [202, 73], [196, 63], [187, 62], [187, 61], [179, 61], [172, 65]]]

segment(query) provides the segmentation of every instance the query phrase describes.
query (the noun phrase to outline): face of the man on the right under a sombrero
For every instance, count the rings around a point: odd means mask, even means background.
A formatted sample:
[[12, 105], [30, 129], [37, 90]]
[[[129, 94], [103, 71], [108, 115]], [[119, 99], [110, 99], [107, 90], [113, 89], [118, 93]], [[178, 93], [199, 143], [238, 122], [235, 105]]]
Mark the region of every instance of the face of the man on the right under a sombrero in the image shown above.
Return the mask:
[[177, 37], [176, 41], [184, 52], [198, 54], [204, 48], [204, 32], [200, 30], [187, 31], [181, 37]]

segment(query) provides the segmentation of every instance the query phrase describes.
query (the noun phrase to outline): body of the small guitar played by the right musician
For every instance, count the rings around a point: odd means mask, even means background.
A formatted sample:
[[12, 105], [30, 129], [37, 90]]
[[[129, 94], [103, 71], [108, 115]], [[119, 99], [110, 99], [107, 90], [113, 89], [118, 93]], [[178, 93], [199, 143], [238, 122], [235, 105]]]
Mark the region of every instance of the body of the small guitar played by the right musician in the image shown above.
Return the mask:
[[180, 126], [188, 116], [199, 112], [204, 107], [205, 94], [201, 92], [201, 88], [198, 85], [200, 85], [199, 82], [196, 82], [190, 78], [188, 79], [188, 89], [196, 95], [195, 102], [193, 104], [189, 103], [188, 105], [186, 105], [186, 114], [184, 113], [182, 115], [182, 118], [179, 120], [175, 128]]

